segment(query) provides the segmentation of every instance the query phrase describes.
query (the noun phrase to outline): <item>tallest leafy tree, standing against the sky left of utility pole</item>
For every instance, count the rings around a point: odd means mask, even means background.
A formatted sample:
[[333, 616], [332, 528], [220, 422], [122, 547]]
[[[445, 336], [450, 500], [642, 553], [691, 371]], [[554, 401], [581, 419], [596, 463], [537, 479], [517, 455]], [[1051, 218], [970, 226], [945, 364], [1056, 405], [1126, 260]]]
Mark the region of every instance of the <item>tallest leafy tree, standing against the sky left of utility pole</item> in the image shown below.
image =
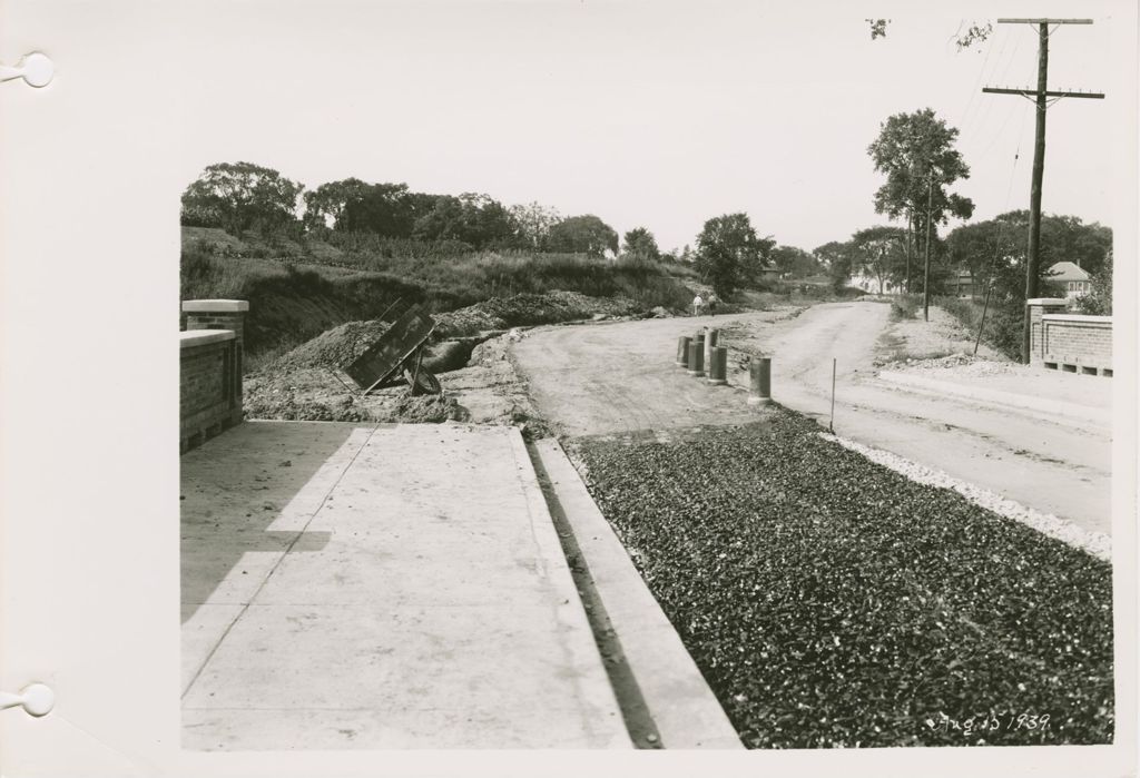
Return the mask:
[[[944, 224], [951, 216], [969, 219], [974, 203], [946, 188], [970, 177], [970, 169], [954, 148], [958, 130], [923, 108], [895, 114], [879, 128], [868, 147], [874, 170], [886, 182], [874, 193], [874, 210], [906, 222], [906, 290], [911, 290], [911, 246], [915, 234]], [[929, 264], [929, 257], [926, 257]]]

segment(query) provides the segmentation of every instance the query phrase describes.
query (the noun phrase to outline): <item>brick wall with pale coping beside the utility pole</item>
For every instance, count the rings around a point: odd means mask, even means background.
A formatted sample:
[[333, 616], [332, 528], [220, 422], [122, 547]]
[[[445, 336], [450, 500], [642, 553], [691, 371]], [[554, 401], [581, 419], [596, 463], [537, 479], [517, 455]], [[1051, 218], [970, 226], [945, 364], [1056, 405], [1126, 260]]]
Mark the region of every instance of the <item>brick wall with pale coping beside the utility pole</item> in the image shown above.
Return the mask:
[[1113, 318], [1057, 312], [1064, 310], [1064, 303], [1029, 301], [1032, 363], [1066, 372], [1112, 376]]

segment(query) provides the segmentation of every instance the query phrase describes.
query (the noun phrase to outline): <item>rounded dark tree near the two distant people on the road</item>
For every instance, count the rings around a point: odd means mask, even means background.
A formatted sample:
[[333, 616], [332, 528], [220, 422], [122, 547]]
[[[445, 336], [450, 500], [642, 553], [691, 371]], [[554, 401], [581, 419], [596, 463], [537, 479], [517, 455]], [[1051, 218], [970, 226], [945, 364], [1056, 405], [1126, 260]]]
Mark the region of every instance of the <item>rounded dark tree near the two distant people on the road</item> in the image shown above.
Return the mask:
[[776, 241], [758, 238], [746, 213], [730, 213], [705, 222], [697, 236], [697, 270], [723, 298], [756, 282]]

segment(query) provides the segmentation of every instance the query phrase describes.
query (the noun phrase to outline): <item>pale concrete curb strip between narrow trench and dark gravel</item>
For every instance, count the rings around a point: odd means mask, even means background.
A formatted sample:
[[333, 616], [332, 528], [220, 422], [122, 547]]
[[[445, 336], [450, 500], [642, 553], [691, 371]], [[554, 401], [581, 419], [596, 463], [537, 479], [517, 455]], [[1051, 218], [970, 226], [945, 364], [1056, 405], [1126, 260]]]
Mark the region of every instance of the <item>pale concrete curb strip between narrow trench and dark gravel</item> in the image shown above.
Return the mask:
[[562, 447], [534, 444], [665, 748], [743, 748], [681, 637]]

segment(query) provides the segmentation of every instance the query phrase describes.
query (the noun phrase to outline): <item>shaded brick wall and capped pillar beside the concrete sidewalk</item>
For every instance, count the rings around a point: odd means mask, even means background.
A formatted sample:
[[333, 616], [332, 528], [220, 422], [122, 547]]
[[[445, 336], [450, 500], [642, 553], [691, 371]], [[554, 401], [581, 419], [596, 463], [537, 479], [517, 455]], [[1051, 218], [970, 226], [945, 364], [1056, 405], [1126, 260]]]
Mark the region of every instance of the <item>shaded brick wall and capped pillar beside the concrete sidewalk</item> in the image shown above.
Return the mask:
[[242, 409], [242, 341], [249, 303], [190, 300], [182, 303], [180, 449], [186, 452], [238, 424]]

